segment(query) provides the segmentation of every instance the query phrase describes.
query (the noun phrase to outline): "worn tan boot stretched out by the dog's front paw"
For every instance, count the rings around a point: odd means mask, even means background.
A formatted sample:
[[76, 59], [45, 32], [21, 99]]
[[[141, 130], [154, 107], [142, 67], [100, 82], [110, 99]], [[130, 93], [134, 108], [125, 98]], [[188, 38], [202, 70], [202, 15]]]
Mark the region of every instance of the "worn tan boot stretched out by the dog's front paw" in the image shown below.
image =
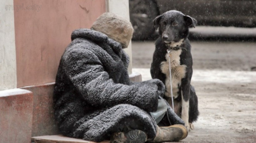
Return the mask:
[[150, 142], [171, 142], [180, 141], [187, 137], [187, 129], [183, 125], [172, 125], [168, 127], [158, 127], [156, 137]]

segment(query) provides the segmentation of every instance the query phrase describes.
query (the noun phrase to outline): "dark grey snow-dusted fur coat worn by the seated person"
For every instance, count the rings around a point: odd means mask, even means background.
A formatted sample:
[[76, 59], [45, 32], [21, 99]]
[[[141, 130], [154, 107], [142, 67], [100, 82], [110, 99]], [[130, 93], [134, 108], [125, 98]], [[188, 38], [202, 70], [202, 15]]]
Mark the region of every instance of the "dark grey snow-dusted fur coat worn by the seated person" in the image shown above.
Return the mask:
[[[157, 110], [164, 84], [157, 79], [130, 82], [128, 55], [120, 43], [101, 32], [78, 29], [71, 39], [60, 60], [54, 90], [60, 132], [100, 142], [108, 140], [120, 122], [134, 119], [148, 138], [154, 138], [157, 125], [149, 112]], [[184, 124], [168, 108], [171, 124]]]

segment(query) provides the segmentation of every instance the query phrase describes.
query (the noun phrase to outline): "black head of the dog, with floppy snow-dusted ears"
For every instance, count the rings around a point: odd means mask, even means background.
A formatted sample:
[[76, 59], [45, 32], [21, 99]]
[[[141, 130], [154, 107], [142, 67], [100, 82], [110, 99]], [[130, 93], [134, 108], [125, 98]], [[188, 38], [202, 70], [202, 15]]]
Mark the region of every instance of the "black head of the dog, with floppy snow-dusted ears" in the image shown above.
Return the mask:
[[153, 22], [155, 28], [159, 28], [159, 34], [165, 43], [179, 42], [186, 38], [188, 28], [195, 28], [197, 24], [196, 19], [174, 10], [157, 16]]

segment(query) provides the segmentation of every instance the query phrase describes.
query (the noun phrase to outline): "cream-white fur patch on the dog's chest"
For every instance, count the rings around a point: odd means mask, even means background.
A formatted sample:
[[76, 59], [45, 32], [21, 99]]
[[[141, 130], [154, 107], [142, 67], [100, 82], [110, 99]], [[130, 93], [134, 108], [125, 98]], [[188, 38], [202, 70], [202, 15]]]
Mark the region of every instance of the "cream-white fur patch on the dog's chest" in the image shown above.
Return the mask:
[[[173, 97], [178, 97], [179, 86], [181, 84], [181, 79], [186, 76], [186, 65], [180, 65], [180, 55], [182, 50], [172, 50], [169, 53], [171, 61], [171, 77], [172, 77], [172, 91]], [[165, 96], [171, 97], [171, 86], [170, 86], [170, 72], [169, 72], [169, 57], [166, 54], [166, 61], [161, 62], [160, 65], [161, 72], [166, 75], [165, 85], [166, 92]]]

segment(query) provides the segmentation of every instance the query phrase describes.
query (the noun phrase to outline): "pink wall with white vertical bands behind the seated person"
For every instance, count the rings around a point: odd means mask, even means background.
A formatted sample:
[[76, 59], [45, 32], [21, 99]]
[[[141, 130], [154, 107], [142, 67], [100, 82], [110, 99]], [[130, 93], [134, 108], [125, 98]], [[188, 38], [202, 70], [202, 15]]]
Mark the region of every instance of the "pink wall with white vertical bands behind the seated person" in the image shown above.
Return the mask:
[[[90, 28], [106, 10], [129, 20], [128, 0], [8, 0], [1, 7], [0, 90], [54, 82], [71, 32]], [[125, 51], [131, 74], [131, 43]]]

